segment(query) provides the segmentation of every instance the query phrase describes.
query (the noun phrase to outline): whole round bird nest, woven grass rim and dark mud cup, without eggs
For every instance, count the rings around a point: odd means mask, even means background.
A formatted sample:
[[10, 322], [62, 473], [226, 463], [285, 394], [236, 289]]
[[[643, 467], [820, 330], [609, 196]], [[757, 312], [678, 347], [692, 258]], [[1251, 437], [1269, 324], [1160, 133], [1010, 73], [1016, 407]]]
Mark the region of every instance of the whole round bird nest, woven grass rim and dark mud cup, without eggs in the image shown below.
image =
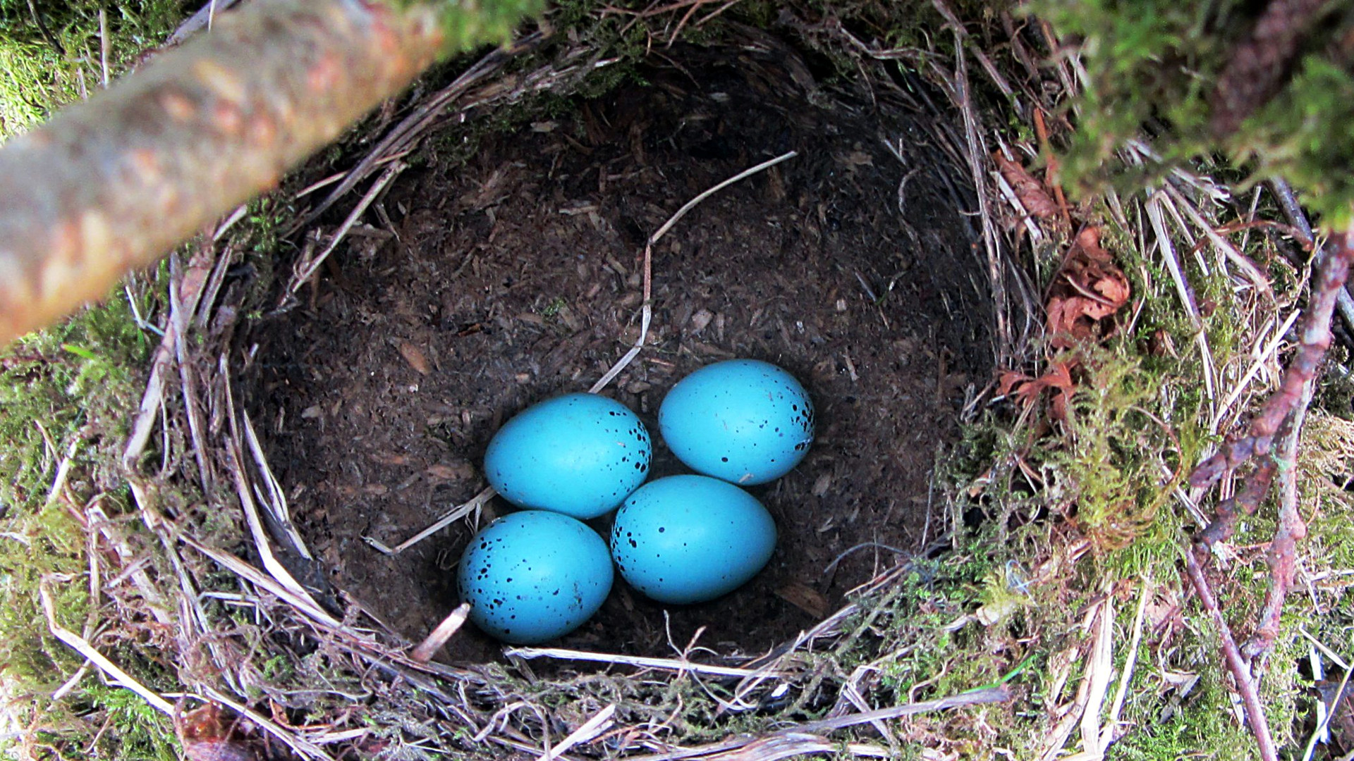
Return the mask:
[[[886, 757], [886, 719], [1007, 699], [898, 692], [946, 631], [909, 622], [965, 615], [925, 593], [964, 521], [944, 463], [1033, 330], [991, 64], [680, 5], [429, 74], [176, 260], [126, 455], [162, 443], [133, 492], [165, 558], [129, 580], [209, 701], [176, 707], [190, 756]], [[653, 421], [734, 356], [818, 405], [758, 490], [757, 578], [676, 608], [617, 584], [550, 647], [459, 627], [506, 417], [590, 390]]]

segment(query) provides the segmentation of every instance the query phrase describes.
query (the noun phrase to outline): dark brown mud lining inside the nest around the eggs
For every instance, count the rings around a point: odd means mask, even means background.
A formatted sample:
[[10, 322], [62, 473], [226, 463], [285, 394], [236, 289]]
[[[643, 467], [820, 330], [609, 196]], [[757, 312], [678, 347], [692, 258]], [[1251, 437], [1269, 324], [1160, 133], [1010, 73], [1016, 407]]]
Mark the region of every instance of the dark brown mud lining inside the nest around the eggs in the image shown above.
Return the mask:
[[[670, 655], [704, 628], [700, 645], [762, 651], [941, 531], [932, 469], [991, 362], [965, 191], [930, 116], [888, 92], [829, 93], [783, 53], [674, 49], [643, 84], [489, 137], [464, 165], [406, 172], [379, 203], [389, 226], [368, 213], [303, 303], [256, 328], [252, 408], [298, 525], [333, 585], [391, 630], [420, 640], [458, 603], [473, 527], [398, 557], [363, 538], [397, 544], [473, 497], [502, 421], [586, 390], [635, 340], [645, 238], [788, 150], [654, 248], [650, 343], [604, 391], [655, 431], [663, 393], [697, 367], [754, 357], [795, 374], [818, 439], [753, 489], [776, 554], [703, 605], [663, 608], [617, 578], [559, 645]], [[680, 471], [661, 443], [653, 470]], [[509, 509], [493, 502], [481, 524]], [[470, 628], [443, 657], [498, 657]]]

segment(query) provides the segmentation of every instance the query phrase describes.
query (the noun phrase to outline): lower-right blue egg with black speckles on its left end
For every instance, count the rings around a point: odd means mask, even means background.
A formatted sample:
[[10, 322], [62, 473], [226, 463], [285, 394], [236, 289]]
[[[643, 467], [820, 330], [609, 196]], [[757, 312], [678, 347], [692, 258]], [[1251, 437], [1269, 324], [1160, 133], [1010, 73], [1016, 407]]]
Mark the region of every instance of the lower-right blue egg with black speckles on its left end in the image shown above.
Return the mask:
[[776, 521], [756, 497], [705, 475], [651, 481], [616, 510], [611, 555], [631, 586], [659, 603], [704, 603], [742, 586], [770, 559]]

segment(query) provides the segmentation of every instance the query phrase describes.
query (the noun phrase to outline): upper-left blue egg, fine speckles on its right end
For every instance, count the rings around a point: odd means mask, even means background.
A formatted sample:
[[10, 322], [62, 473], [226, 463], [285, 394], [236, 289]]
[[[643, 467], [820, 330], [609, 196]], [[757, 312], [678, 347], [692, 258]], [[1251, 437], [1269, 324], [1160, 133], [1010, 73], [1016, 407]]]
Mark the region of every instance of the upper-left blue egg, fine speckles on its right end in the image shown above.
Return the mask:
[[485, 474], [509, 502], [588, 520], [649, 475], [653, 441], [635, 413], [597, 394], [538, 402], [489, 441]]

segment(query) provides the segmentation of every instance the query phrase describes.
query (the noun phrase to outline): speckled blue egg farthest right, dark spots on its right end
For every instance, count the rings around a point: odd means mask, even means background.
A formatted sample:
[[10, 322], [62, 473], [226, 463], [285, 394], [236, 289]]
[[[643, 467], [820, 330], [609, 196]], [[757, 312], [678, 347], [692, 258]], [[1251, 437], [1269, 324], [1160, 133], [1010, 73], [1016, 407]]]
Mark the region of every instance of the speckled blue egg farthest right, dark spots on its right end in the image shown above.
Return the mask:
[[731, 483], [765, 483], [808, 454], [814, 402], [774, 364], [730, 359], [678, 380], [658, 409], [658, 429], [692, 470]]

